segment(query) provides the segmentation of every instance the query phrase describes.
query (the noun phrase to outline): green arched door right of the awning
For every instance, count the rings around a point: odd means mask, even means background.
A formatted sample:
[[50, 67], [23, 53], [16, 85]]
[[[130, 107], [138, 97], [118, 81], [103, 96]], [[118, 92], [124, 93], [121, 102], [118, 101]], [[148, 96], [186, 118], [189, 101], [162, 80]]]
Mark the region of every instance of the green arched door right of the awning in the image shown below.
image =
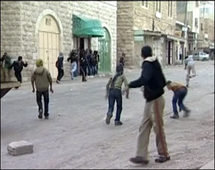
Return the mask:
[[105, 28], [104, 32], [104, 37], [99, 37], [99, 72], [108, 73], [111, 72], [111, 44], [109, 32]]

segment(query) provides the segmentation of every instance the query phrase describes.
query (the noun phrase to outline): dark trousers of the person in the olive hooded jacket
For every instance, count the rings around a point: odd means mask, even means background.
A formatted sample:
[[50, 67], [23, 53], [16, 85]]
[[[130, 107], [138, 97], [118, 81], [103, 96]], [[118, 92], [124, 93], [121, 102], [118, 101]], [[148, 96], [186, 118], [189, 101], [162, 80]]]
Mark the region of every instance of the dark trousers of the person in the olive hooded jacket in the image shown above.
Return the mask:
[[43, 111], [42, 96], [44, 98], [44, 108], [45, 108], [44, 116], [49, 116], [49, 91], [46, 90], [46, 91], [37, 91], [36, 92], [39, 112]]

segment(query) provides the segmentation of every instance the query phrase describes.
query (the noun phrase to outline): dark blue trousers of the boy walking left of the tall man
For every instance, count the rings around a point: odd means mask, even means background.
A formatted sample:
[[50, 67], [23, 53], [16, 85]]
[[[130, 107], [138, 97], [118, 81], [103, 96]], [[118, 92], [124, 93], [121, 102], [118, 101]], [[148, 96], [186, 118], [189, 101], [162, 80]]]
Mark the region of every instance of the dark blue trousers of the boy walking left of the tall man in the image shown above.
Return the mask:
[[122, 112], [122, 92], [120, 89], [110, 89], [109, 97], [108, 97], [108, 113], [109, 115], [113, 114], [115, 101], [117, 103], [116, 109], [116, 118], [115, 121], [120, 121], [120, 115]]

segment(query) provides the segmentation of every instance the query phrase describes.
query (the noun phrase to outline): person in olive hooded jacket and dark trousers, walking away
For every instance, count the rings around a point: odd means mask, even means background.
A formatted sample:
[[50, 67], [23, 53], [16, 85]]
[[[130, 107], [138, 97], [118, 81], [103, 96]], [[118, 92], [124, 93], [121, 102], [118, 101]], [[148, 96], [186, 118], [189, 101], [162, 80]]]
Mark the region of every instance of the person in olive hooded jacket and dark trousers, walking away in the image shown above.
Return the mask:
[[53, 93], [52, 89], [52, 77], [49, 71], [43, 67], [43, 61], [41, 59], [36, 60], [37, 68], [34, 70], [31, 76], [32, 92], [35, 92], [34, 84], [36, 85], [36, 100], [38, 104], [38, 118], [42, 119], [43, 116], [43, 105], [42, 96], [44, 98], [44, 116], [47, 119], [49, 116], [49, 86], [50, 91]]

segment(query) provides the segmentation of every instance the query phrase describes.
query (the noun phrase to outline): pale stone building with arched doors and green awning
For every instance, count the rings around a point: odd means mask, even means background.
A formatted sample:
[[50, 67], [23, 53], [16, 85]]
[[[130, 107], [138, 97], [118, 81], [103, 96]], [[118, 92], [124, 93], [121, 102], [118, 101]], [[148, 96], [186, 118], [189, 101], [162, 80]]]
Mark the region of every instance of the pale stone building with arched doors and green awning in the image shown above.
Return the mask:
[[[100, 71], [111, 72], [116, 64], [116, 11], [113, 1], [2, 1], [1, 56], [4, 52], [13, 59], [23, 56], [29, 64], [23, 70], [24, 81], [29, 80], [37, 58], [56, 78], [60, 51], [68, 76], [66, 59], [78, 48], [98, 50]], [[74, 31], [77, 27], [82, 30], [79, 34]]]

